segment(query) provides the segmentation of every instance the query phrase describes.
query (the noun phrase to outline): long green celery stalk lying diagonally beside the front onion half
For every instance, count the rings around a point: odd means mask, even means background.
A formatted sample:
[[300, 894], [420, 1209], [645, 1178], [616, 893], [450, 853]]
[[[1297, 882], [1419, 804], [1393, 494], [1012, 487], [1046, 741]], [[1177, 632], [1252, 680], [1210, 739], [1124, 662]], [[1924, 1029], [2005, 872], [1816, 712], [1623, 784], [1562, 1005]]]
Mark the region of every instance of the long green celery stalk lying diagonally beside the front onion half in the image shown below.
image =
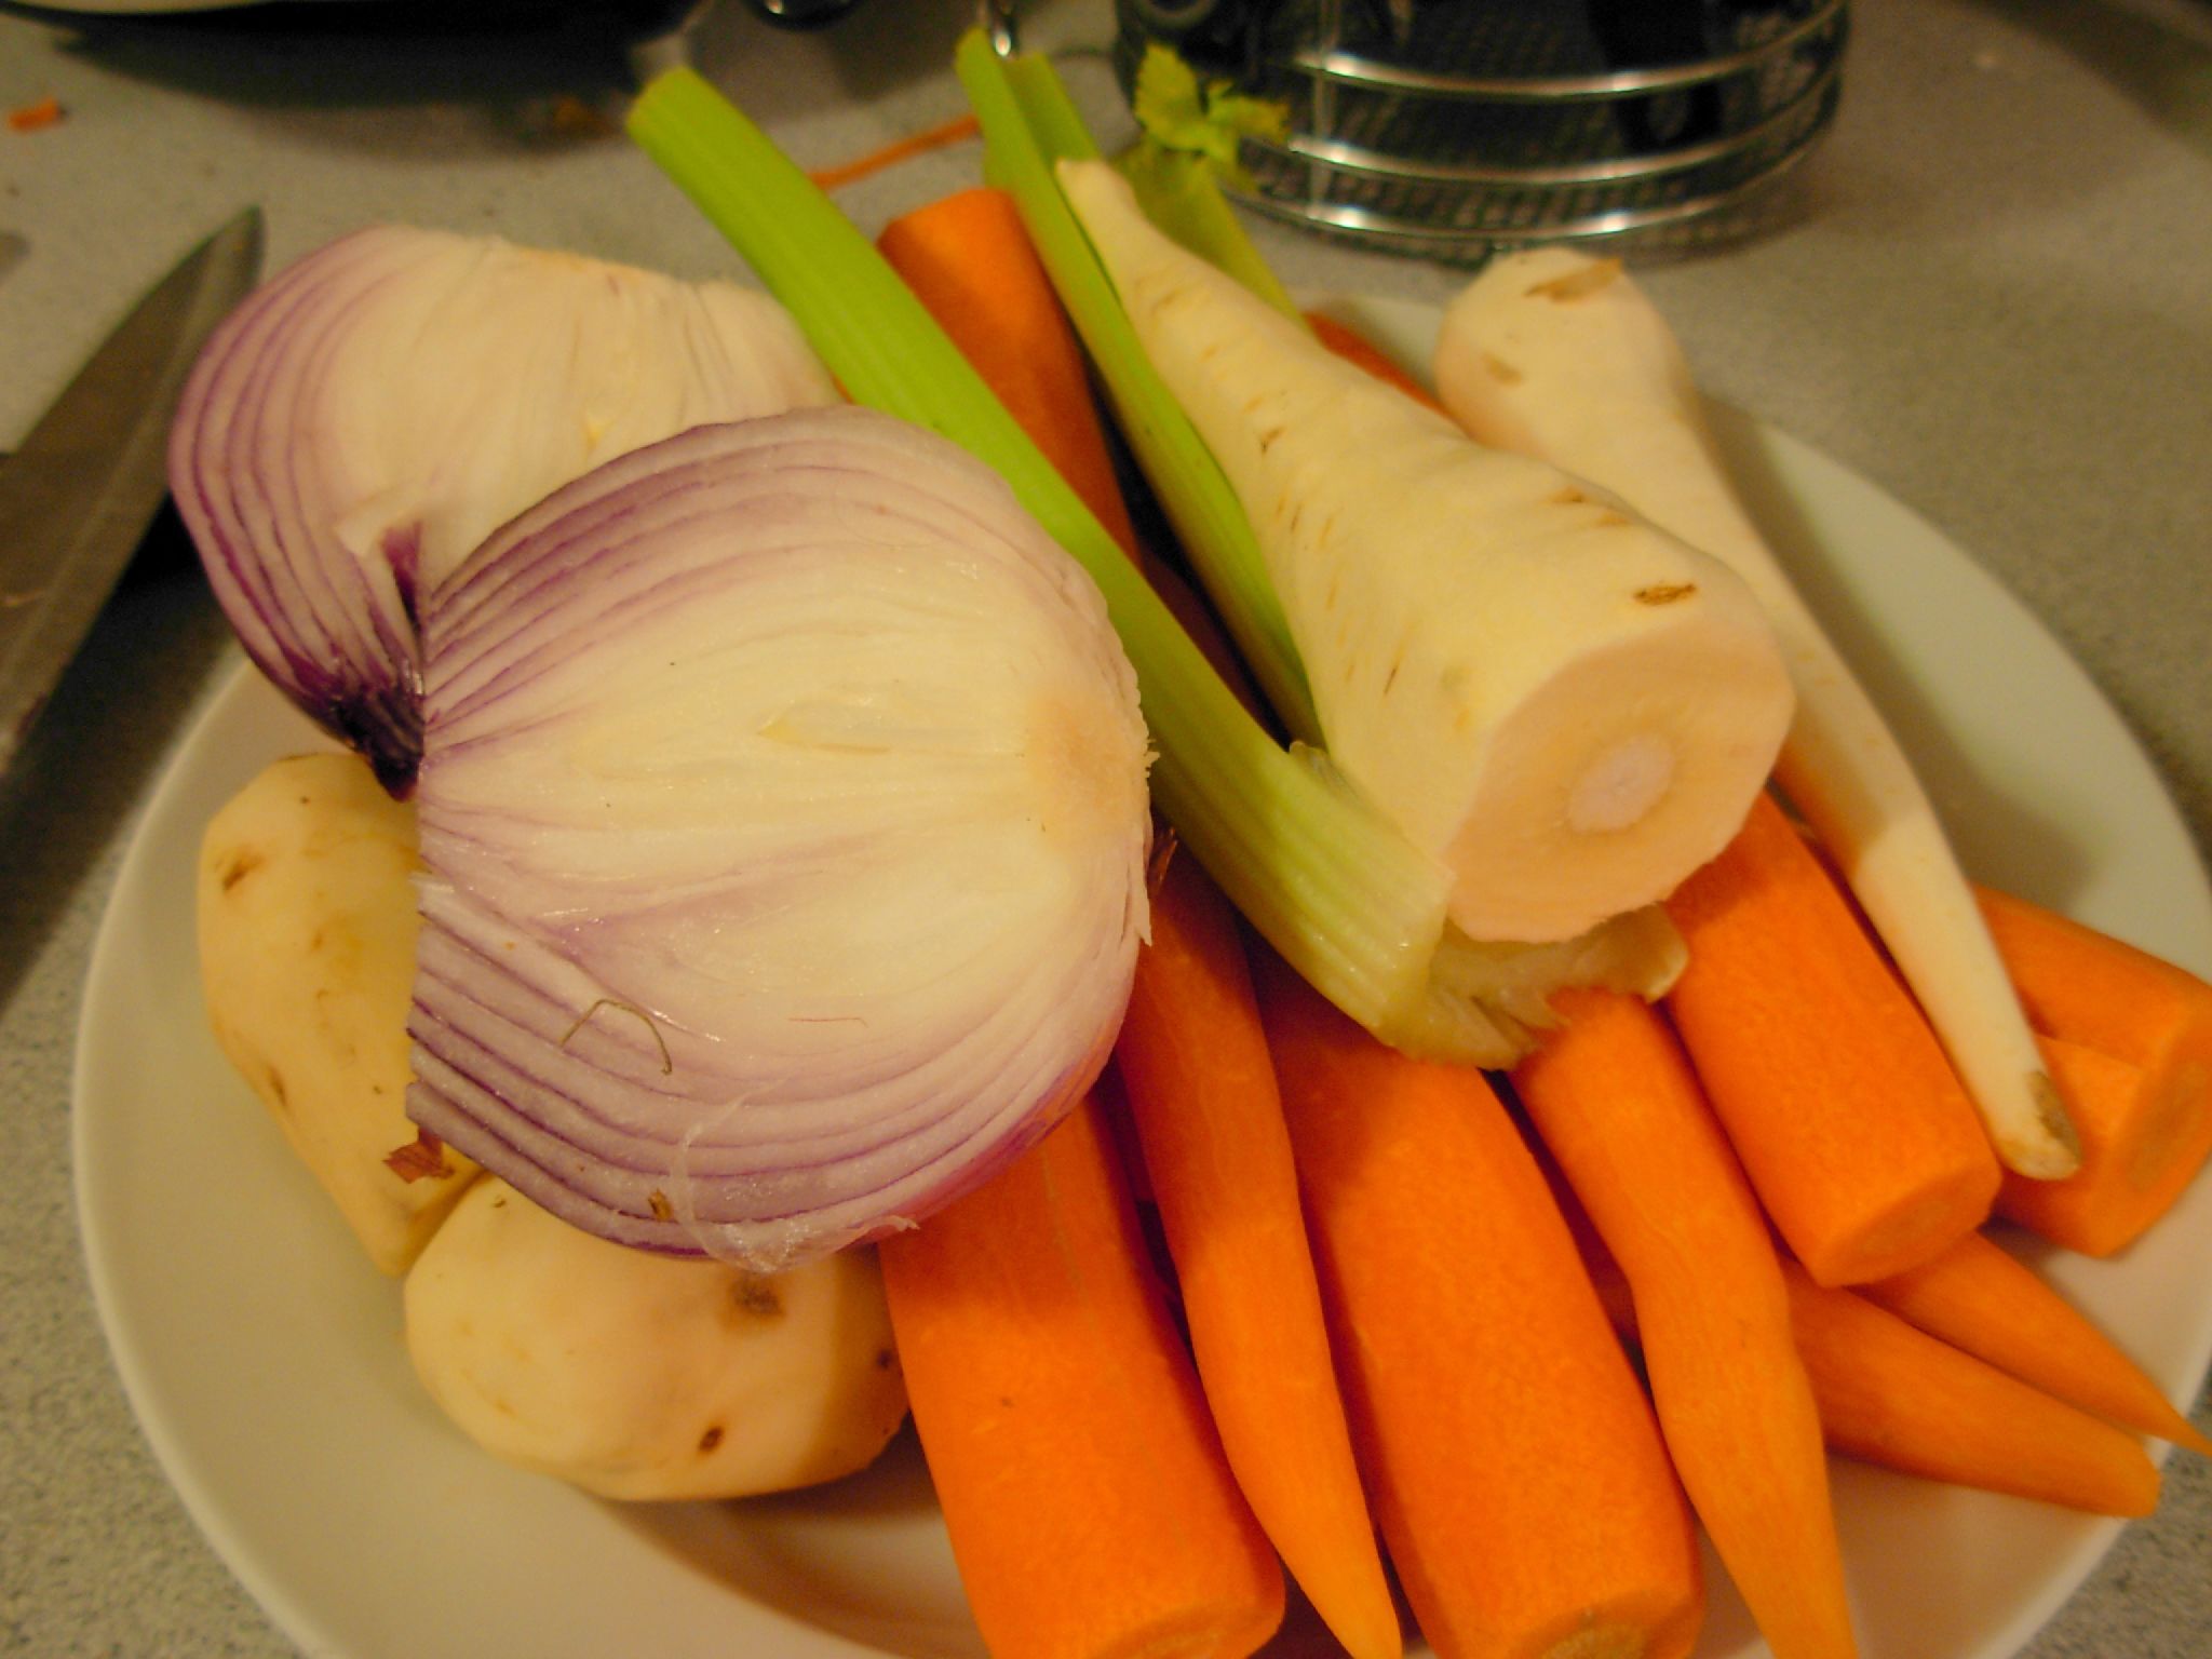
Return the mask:
[[1444, 869], [1243, 710], [867, 239], [688, 69], [646, 86], [628, 131], [796, 316], [856, 403], [991, 465], [1091, 573], [1159, 750], [1152, 796], [1261, 936], [1387, 1042], [1482, 1060], [1486, 1022], [1429, 973], [1444, 933]]

